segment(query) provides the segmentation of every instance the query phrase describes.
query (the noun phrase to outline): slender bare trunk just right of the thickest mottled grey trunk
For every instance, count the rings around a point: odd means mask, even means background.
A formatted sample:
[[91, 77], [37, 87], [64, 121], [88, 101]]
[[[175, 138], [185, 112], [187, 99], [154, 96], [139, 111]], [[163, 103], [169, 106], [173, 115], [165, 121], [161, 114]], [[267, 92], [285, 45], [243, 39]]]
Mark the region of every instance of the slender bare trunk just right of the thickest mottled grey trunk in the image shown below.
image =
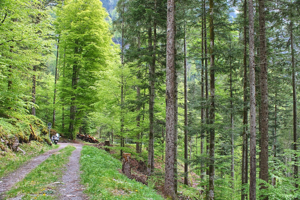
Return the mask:
[[186, 25], [184, 24], [184, 184], [185, 185], [188, 185], [187, 167], [188, 167], [188, 163], [187, 163], [187, 43], [186, 43]]

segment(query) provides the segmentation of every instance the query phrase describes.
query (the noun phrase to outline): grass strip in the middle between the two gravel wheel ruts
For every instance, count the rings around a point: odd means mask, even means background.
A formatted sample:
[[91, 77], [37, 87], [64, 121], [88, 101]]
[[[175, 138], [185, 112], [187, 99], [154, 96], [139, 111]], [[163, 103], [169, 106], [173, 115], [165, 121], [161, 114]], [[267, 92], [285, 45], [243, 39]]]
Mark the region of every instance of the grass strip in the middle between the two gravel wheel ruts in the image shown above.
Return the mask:
[[68, 157], [75, 150], [73, 146], [67, 146], [36, 167], [26, 177], [16, 184], [16, 188], [6, 192], [7, 198], [20, 197], [22, 200], [29, 199], [55, 199], [49, 194], [53, 193], [50, 183], [56, 182], [62, 177], [69, 162]]

